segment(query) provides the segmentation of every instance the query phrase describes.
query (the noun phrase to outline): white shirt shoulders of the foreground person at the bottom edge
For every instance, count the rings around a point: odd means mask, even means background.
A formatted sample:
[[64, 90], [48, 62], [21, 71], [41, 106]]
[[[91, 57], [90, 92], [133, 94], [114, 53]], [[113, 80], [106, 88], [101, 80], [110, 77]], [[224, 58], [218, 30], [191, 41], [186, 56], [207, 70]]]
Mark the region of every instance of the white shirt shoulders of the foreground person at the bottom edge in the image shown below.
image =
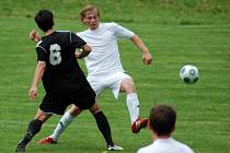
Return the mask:
[[173, 138], [158, 139], [148, 146], [141, 148], [137, 153], [194, 153], [191, 148]]

